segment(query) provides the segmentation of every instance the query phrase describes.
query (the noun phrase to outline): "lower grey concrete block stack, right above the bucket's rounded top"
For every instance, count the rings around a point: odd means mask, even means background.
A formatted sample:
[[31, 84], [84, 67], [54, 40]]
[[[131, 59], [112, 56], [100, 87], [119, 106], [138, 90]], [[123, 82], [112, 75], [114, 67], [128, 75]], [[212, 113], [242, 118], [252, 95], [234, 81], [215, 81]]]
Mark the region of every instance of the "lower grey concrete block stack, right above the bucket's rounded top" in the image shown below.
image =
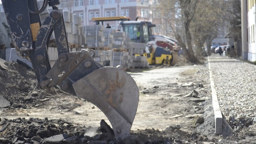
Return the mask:
[[130, 68], [131, 66], [131, 56], [129, 55], [129, 52], [114, 52], [112, 58], [113, 66], [120, 69]]

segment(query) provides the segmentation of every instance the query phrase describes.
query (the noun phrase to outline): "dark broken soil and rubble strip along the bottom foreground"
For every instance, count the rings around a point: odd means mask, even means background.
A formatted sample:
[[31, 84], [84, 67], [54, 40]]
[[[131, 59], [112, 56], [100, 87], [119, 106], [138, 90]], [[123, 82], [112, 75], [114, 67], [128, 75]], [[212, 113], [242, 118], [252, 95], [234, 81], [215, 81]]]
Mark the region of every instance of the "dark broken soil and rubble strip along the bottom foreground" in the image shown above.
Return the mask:
[[100, 127], [81, 126], [63, 119], [16, 118], [0, 119], [1, 144], [140, 144], [170, 143], [193, 144], [209, 139], [198, 133], [180, 130], [180, 126], [170, 126], [165, 130], [145, 129], [132, 131], [122, 138], [103, 132]]

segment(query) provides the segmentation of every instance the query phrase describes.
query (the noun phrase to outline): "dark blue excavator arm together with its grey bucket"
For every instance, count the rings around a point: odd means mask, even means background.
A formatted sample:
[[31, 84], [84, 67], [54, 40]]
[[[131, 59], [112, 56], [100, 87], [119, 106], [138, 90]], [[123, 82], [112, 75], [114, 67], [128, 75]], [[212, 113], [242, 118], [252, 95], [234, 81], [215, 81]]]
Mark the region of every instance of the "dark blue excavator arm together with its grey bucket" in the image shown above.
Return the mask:
[[[41, 23], [39, 14], [47, 5], [53, 10]], [[44, 0], [38, 10], [37, 0], [2, 0], [17, 55], [32, 63], [42, 88], [59, 85], [63, 91], [90, 101], [106, 115], [115, 136], [129, 134], [139, 102], [135, 81], [121, 69], [97, 63], [92, 49], [69, 52], [58, 5], [59, 0]], [[47, 50], [53, 31], [58, 59], [51, 68]]]

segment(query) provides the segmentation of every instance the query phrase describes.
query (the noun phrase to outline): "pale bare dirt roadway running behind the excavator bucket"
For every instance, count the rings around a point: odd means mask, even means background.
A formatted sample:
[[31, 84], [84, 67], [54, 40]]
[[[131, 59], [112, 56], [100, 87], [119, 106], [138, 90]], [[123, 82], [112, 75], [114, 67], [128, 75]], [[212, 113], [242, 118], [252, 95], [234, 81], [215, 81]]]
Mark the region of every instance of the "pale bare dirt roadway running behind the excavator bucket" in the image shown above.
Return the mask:
[[[183, 115], [186, 115], [186, 110], [195, 106], [194, 102], [183, 102], [181, 96], [173, 95], [191, 91], [191, 87], [181, 87], [181, 84], [194, 82], [190, 81], [188, 77], [196, 73], [196, 66], [135, 70], [128, 73], [136, 81], [140, 90], [138, 111], [132, 130], [145, 128], [164, 130], [175, 124], [185, 124], [185, 128], [191, 125], [192, 120], [183, 117]], [[79, 106], [72, 109], [75, 107], [74, 105]], [[45, 106], [41, 108], [31, 107], [30, 109], [18, 108], [0, 111], [0, 115], [1, 118], [8, 119], [17, 117], [66, 119], [92, 127], [100, 126], [100, 120], [105, 119], [110, 124], [97, 107], [75, 96], [56, 95], [45, 102]]]

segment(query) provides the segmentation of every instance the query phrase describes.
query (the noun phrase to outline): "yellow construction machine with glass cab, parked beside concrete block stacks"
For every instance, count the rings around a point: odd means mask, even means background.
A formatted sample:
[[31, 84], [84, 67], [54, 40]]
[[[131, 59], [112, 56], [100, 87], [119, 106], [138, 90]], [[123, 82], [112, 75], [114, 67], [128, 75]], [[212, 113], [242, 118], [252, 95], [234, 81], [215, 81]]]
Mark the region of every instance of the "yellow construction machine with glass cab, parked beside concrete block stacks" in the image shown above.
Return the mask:
[[[129, 35], [132, 42], [146, 43], [144, 56], [147, 57], [149, 64], [175, 65], [177, 63], [178, 53], [172, 50], [170, 40], [153, 35], [151, 28], [155, 25], [151, 22], [120, 21], [119, 27]], [[140, 33], [139, 37], [137, 33]], [[167, 46], [157, 42], [166, 43]]]

